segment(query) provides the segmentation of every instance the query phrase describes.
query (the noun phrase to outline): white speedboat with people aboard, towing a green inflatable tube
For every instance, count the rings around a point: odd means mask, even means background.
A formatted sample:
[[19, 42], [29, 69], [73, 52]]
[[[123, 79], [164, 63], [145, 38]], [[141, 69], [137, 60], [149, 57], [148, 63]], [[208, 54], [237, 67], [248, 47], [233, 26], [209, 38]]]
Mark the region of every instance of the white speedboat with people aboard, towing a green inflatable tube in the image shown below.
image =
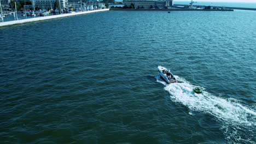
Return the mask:
[[161, 77], [168, 83], [175, 83], [178, 82], [178, 80], [174, 77], [174, 75], [171, 73], [170, 69], [166, 69], [165, 67], [158, 66], [158, 71], [161, 75]]

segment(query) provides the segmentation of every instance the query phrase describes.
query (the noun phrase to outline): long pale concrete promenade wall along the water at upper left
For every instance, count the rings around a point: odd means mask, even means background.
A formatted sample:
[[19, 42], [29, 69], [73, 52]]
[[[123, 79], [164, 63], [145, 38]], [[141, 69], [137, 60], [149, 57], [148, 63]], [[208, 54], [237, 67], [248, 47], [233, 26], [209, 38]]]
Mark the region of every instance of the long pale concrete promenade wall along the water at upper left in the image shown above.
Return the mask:
[[75, 16], [75, 15], [83, 15], [83, 14], [97, 13], [97, 12], [108, 11], [108, 10], [109, 10], [109, 9], [98, 9], [98, 10], [91, 10], [91, 11], [82, 11], [82, 12], [78, 12], [78, 13], [69, 13], [69, 14], [61, 14], [61, 15], [51, 15], [51, 16], [44, 16], [44, 17], [35, 17], [35, 18], [31, 18], [31, 19], [23, 19], [23, 20], [16, 20], [16, 21], [0, 22], [0, 27], [13, 26], [13, 25], [20, 25], [20, 24], [29, 23], [29, 22], [37, 22], [37, 21], [58, 19], [58, 18], [68, 17], [68, 16]]

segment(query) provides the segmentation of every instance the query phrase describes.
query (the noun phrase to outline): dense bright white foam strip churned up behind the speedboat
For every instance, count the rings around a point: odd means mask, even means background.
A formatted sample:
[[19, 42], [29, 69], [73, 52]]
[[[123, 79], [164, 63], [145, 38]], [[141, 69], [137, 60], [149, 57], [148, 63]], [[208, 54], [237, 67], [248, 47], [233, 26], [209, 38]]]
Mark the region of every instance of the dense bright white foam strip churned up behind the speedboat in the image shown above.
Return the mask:
[[195, 86], [184, 79], [177, 78], [183, 83], [172, 83], [166, 85], [165, 90], [171, 94], [173, 101], [188, 106], [191, 110], [211, 113], [211, 115], [224, 121], [233, 121], [245, 125], [255, 125], [252, 117], [255, 118], [255, 110], [242, 106], [238, 100], [216, 97], [206, 91], [197, 94], [193, 91]]

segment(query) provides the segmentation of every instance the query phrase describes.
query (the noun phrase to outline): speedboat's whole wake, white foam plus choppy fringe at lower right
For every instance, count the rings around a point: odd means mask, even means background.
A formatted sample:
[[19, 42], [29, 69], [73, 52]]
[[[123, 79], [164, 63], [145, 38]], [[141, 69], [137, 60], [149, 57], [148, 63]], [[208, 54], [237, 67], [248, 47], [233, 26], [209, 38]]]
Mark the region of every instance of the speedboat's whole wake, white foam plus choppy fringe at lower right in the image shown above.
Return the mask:
[[221, 130], [228, 143], [255, 143], [255, 107], [249, 108], [243, 106], [242, 101], [217, 97], [206, 91], [197, 94], [193, 91], [196, 86], [181, 77], [176, 77], [179, 83], [167, 84], [161, 80], [160, 75], [156, 76], [156, 81], [165, 85], [164, 89], [170, 93], [172, 101], [183, 104], [190, 110], [216, 117], [223, 125]]

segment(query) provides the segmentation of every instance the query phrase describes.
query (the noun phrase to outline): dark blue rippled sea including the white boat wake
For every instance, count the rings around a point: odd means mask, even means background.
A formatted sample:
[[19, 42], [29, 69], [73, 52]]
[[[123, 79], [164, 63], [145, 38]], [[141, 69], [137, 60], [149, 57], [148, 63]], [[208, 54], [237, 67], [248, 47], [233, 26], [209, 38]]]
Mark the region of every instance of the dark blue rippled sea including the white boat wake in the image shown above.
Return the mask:
[[256, 143], [256, 11], [106, 11], [0, 45], [0, 143]]

